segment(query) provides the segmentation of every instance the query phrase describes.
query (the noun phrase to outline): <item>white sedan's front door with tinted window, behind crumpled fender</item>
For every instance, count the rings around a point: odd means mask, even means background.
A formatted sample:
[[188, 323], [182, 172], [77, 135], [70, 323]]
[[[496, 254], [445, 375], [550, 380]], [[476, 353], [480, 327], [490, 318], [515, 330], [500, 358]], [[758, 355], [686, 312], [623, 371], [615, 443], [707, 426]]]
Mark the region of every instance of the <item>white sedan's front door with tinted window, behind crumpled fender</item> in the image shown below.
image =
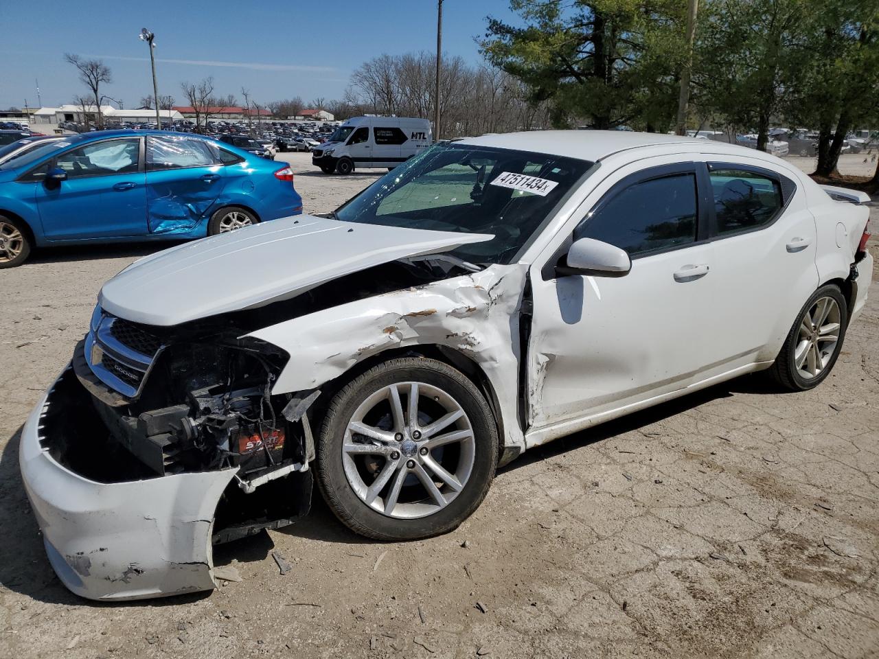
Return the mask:
[[695, 163], [637, 171], [578, 223], [571, 241], [589, 237], [628, 252], [624, 276], [563, 275], [552, 263], [533, 269], [528, 422], [544, 438], [555, 436], [551, 426], [686, 387], [710, 360], [702, 319], [713, 246], [697, 177]]

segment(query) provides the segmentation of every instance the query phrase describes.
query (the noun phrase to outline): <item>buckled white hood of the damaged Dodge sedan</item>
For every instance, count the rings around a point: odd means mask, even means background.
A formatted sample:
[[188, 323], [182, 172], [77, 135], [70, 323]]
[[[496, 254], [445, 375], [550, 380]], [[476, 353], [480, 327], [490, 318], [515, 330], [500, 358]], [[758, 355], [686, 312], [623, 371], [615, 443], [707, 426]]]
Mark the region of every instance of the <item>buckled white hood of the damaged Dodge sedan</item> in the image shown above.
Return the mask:
[[105, 283], [98, 304], [132, 322], [177, 325], [262, 307], [374, 265], [492, 237], [298, 215], [135, 261]]

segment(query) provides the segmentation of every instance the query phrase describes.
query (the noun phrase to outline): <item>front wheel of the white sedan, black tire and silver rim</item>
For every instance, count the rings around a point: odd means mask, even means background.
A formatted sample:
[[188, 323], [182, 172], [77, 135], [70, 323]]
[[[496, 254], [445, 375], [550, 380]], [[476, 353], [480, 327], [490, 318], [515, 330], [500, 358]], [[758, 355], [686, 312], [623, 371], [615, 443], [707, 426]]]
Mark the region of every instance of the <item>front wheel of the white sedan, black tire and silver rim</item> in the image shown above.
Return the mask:
[[[408, 403], [412, 383], [419, 394], [414, 429]], [[395, 390], [399, 423], [390, 402]], [[449, 410], [463, 414], [430, 431]], [[384, 439], [351, 432], [349, 424], [358, 421], [376, 424], [373, 431], [384, 432]], [[447, 443], [431, 446], [439, 438]], [[367, 450], [352, 453], [345, 446]], [[438, 475], [437, 465], [445, 476]], [[317, 444], [323, 498], [343, 524], [374, 540], [419, 540], [452, 531], [482, 503], [497, 465], [498, 428], [482, 393], [452, 366], [426, 358], [391, 359], [352, 380], [333, 397]], [[433, 483], [433, 494], [425, 481]]]

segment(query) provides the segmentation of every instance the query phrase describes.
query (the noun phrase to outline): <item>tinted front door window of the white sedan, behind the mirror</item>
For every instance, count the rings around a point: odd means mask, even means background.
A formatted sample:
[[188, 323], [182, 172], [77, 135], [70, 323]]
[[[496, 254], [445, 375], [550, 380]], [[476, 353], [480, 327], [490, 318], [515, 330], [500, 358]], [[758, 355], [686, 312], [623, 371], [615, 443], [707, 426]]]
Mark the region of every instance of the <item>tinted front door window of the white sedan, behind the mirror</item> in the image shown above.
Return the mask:
[[599, 206], [575, 229], [574, 239], [604, 241], [629, 256], [679, 247], [696, 241], [696, 209], [694, 174], [653, 178]]

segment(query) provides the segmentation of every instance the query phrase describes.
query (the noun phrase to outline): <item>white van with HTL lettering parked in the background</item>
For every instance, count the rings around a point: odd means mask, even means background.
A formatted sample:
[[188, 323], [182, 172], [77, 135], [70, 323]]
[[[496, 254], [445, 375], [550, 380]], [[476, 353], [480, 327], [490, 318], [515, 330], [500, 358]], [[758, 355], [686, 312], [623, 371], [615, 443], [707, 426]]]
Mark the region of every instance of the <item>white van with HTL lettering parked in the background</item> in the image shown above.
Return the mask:
[[356, 167], [395, 168], [432, 144], [431, 122], [406, 117], [353, 117], [311, 152], [324, 174]]

